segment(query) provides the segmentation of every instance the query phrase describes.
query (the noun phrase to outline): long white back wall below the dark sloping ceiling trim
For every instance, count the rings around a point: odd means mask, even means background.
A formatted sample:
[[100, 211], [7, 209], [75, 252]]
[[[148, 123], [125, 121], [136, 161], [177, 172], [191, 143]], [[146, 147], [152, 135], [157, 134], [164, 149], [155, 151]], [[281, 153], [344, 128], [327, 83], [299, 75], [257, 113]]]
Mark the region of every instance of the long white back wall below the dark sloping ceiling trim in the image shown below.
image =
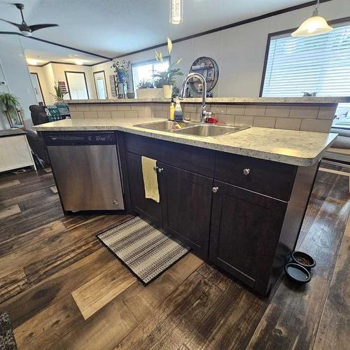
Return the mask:
[[[303, 20], [311, 15], [312, 11], [313, 6], [310, 6], [265, 20], [174, 43], [172, 62], [183, 57], [180, 67], [183, 73], [188, 73], [190, 65], [197, 57], [212, 57], [219, 67], [219, 79], [213, 91], [214, 96], [257, 97], [260, 92], [268, 34], [298, 27]], [[350, 1], [332, 0], [321, 3], [320, 14], [327, 20], [349, 16]], [[162, 53], [167, 55], [166, 48], [162, 48]], [[141, 62], [153, 58], [154, 50], [148, 50], [123, 57], [120, 60]], [[111, 62], [92, 66], [92, 71], [101, 70], [106, 71], [106, 79], [109, 80], [109, 75], [113, 73]], [[178, 86], [181, 85], [181, 80], [182, 78], [179, 78]], [[107, 85], [109, 97], [111, 97], [109, 81], [107, 81]]]

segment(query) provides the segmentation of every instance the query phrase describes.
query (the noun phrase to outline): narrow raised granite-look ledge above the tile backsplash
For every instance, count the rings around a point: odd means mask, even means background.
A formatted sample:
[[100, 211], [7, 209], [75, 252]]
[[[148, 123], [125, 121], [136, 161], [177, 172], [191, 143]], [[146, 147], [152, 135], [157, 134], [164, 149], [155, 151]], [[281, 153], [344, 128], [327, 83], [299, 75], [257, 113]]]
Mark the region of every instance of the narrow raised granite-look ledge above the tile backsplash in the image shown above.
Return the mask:
[[[171, 99], [71, 99], [67, 104], [109, 104], [170, 102]], [[202, 97], [182, 99], [181, 103], [202, 103]], [[207, 104], [338, 104], [350, 103], [350, 97], [211, 97]]]

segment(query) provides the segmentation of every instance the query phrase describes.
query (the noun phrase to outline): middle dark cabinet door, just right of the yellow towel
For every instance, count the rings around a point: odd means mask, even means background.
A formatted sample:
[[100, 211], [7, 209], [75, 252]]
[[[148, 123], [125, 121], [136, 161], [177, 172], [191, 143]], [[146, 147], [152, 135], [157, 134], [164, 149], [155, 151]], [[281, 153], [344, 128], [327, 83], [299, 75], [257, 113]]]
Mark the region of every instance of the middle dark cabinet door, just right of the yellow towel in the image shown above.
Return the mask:
[[207, 258], [213, 179], [162, 163], [159, 167], [163, 227]]

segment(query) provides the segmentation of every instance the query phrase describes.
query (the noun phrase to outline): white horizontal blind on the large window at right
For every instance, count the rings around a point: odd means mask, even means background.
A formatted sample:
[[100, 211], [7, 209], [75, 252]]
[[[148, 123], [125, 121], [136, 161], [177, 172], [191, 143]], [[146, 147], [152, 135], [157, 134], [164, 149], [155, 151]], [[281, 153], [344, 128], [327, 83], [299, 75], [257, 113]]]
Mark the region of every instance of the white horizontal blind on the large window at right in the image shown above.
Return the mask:
[[276, 36], [269, 43], [263, 97], [350, 96], [350, 24], [328, 34]]

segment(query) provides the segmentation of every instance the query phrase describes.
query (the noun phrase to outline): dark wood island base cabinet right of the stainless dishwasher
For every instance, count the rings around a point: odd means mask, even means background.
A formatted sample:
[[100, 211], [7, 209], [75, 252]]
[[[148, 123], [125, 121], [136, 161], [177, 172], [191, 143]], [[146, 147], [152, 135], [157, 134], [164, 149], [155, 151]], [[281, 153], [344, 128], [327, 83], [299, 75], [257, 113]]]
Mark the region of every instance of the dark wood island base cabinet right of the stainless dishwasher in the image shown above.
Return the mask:
[[[318, 165], [296, 167], [127, 133], [118, 140], [130, 211], [258, 293], [269, 293], [295, 248]], [[161, 169], [160, 203], [145, 198], [141, 155]]]

